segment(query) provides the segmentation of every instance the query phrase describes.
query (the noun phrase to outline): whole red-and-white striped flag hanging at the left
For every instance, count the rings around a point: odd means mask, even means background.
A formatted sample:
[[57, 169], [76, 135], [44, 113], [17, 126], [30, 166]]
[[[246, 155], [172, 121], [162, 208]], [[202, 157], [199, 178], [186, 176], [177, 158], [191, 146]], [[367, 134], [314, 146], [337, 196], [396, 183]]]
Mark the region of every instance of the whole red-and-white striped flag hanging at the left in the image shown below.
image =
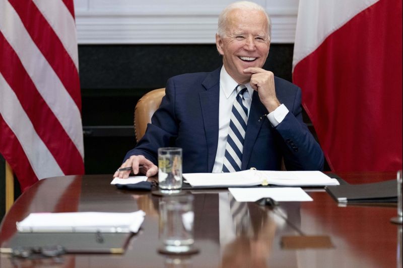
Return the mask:
[[0, 0], [0, 153], [23, 191], [84, 173], [73, 0]]

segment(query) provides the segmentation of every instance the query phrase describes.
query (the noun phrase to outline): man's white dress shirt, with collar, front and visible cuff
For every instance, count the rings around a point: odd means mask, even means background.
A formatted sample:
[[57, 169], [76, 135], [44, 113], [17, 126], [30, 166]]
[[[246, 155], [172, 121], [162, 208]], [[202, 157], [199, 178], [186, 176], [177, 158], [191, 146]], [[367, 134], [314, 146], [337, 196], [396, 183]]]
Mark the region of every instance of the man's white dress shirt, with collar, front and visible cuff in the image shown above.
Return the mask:
[[[223, 170], [225, 147], [227, 145], [228, 128], [231, 120], [232, 105], [236, 98], [235, 87], [238, 83], [228, 74], [224, 66], [221, 68], [220, 73], [220, 102], [219, 102], [219, 130], [218, 130], [218, 146], [216, 153], [216, 160], [213, 166], [213, 173], [220, 173]], [[250, 105], [252, 103], [253, 88], [249, 83], [245, 84], [247, 92], [244, 93], [243, 105], [248, 109], [248, 116]], [[288, 113], [287, 107], [282, 104], [276, 110], [267, 115], [270, 123], [276, 127], [280, 124]]]

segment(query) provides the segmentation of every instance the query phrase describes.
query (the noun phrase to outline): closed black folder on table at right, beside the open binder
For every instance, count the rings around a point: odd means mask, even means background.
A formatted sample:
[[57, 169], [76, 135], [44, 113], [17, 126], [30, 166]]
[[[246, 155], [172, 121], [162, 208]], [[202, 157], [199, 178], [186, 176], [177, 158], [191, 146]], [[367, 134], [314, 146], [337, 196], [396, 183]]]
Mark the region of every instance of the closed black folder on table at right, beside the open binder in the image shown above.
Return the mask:
[[396, 180], [359, 185], [326, 186], [325, 189], [339, 203], [397, 202]]

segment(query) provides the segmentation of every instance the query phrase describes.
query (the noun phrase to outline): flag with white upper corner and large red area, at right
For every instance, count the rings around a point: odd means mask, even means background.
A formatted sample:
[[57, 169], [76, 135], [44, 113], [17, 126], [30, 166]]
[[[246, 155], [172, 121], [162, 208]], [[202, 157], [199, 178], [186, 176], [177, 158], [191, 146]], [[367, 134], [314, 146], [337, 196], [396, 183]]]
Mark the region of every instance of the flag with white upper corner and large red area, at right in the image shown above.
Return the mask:
[[300, 0], [293, 81], [332, 170], [401, 169], [401, 0]]

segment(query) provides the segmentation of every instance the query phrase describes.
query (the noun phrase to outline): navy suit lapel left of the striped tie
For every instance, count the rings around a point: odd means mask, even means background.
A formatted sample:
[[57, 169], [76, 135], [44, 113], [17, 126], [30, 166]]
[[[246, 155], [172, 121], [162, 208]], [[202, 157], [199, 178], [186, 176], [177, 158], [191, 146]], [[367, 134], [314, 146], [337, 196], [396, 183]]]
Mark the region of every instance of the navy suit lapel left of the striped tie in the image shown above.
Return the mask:
[[203, 114], [206, 133], [209, 172], [213, 170], [218, 145], [220, 70], [221, 68], [207, 75], [202, 83], [206, 91], [199, 93], [201, 113]]

